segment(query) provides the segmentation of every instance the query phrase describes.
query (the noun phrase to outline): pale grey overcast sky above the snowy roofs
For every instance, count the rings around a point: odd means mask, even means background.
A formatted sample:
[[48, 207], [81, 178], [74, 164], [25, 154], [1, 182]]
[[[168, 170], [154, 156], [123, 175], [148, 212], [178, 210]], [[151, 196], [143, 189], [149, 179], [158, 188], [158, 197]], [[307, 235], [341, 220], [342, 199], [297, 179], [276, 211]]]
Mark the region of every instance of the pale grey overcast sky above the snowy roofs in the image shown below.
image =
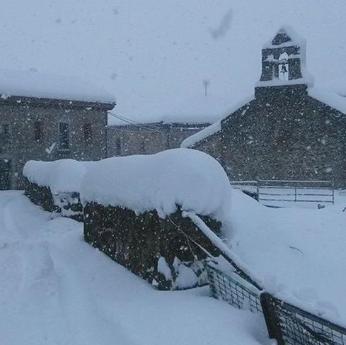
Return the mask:
[[221, 117], [253, 92], [282, 24], [306, 38], [316, 85], [346, 94], [345, 0], [2, 2], [0, 69], [85, 79], [129, 118]]

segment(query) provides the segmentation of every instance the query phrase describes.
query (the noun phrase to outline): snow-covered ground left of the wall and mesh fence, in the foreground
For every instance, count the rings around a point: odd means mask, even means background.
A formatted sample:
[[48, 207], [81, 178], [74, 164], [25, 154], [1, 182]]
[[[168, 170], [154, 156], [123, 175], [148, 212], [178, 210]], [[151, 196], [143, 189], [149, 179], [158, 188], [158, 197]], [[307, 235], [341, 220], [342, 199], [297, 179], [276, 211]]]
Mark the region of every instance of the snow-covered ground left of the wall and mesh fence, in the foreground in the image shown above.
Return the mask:
[[263, 319], [159, 292], [83, 242], [82, 225], [0, 192], [0, 344], [270, 344]]

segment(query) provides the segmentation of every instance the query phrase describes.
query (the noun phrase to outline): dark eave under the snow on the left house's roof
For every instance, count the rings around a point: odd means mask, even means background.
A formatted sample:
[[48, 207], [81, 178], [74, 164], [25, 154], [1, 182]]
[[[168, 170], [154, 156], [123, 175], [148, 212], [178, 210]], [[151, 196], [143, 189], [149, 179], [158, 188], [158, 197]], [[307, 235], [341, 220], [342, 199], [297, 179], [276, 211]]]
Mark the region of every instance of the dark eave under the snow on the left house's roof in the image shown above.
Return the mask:
[[73, 99], [45, 98], [35, 96], [6, 96], [0, 95], [0, 104], [16, 106], [35, 106], [43, 108], [91, 108], [110, 111], [116, 106], [116, 102], [101, 101], [76, 101]]

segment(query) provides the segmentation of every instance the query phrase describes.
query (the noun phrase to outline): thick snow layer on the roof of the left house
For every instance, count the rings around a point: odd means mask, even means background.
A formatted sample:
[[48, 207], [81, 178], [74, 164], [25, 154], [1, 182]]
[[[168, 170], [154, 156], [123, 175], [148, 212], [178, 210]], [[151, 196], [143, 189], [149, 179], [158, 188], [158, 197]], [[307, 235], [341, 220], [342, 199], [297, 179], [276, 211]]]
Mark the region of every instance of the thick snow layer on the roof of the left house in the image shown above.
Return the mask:
[[77, 77], [0, 69], [0, 94], [37, 98], [115, 103], [115, 96]]

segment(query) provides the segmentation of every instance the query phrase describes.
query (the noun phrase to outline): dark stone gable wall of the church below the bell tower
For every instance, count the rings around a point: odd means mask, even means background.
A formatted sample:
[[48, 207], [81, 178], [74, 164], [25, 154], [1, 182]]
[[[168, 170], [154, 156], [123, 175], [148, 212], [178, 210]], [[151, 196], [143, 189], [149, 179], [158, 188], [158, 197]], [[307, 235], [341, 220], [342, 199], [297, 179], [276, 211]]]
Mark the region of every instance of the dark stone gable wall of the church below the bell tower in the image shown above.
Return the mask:
[[306, 86], [258, 88], [254, 101], [229, 115], [217, 133], [220, 152], [195, 148], [224, 166], [231, 180], [335, 180], [346, 187], [346, 115], [311, 98]]

